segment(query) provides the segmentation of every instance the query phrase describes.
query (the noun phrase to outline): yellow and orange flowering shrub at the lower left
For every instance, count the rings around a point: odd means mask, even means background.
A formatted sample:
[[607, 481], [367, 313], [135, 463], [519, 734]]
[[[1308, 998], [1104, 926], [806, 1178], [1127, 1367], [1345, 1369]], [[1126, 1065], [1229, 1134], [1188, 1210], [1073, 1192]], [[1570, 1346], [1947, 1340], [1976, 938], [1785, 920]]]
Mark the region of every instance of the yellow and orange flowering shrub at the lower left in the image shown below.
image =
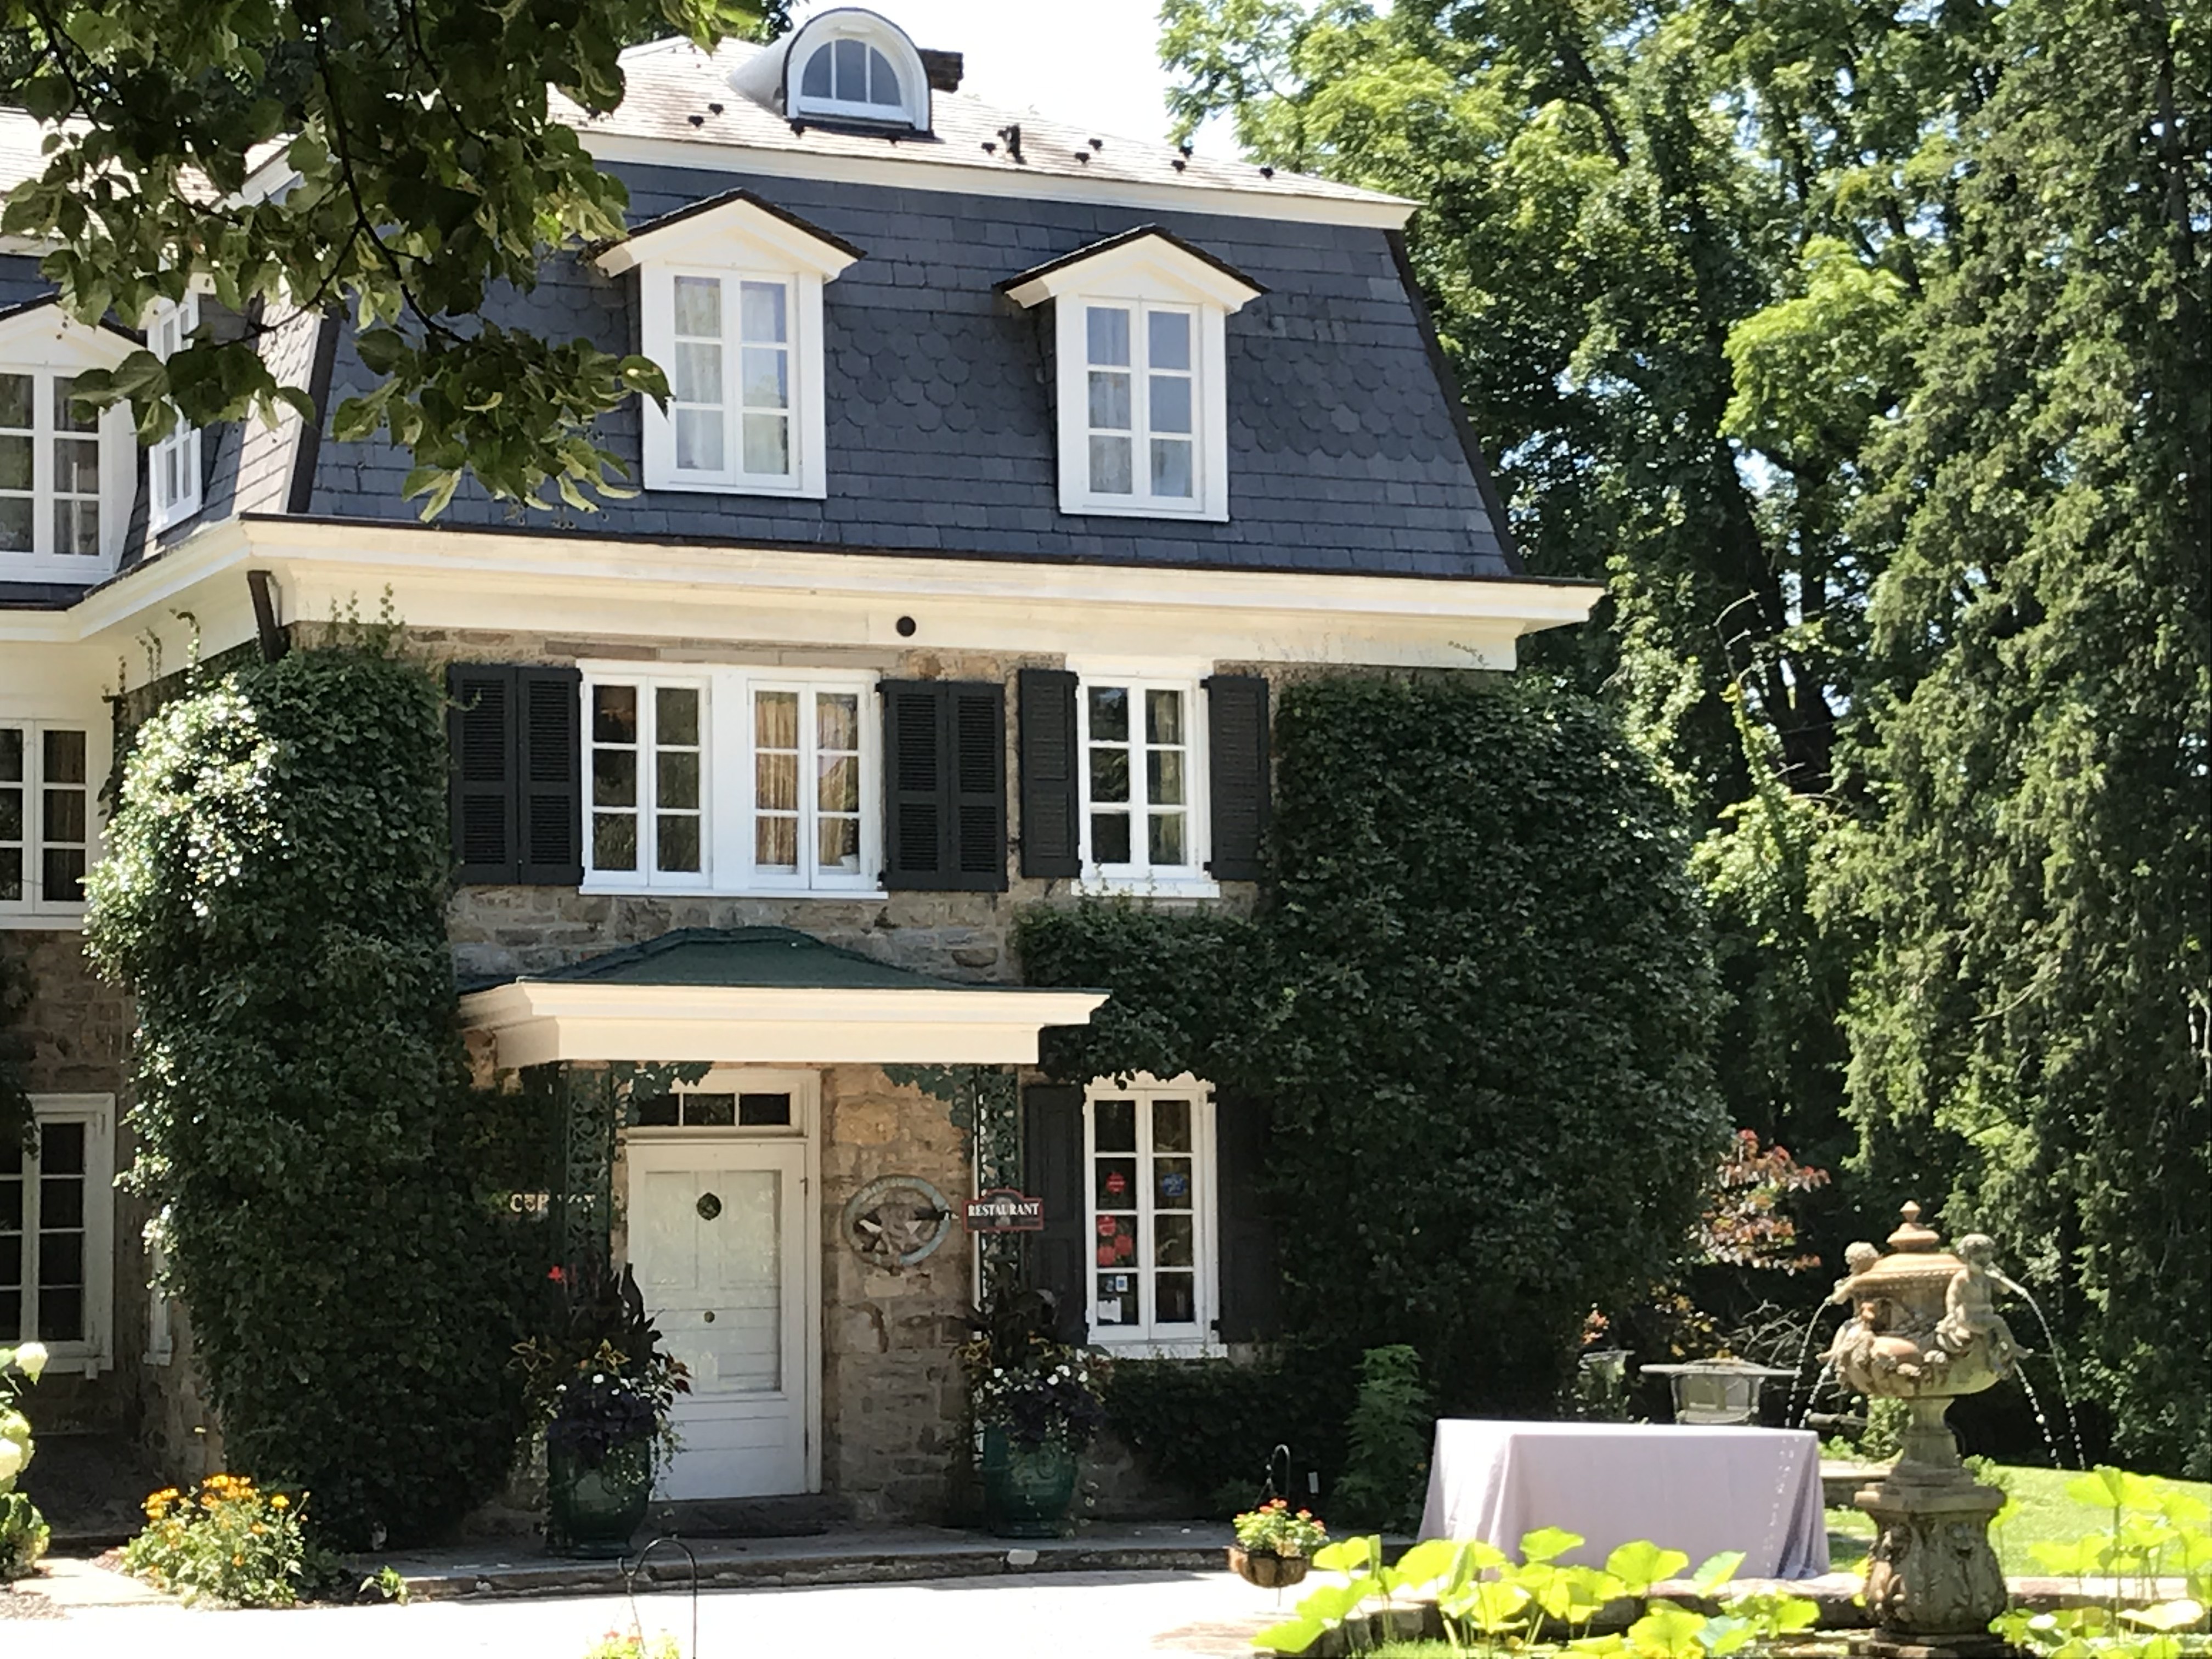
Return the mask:
[[288, 1608], [307, 1573], [301, 1504], [243, 1475], [168, 1486], [146, 1500], [146, 1528], [124, 1546], [124, 1571], [186, 1601]]

